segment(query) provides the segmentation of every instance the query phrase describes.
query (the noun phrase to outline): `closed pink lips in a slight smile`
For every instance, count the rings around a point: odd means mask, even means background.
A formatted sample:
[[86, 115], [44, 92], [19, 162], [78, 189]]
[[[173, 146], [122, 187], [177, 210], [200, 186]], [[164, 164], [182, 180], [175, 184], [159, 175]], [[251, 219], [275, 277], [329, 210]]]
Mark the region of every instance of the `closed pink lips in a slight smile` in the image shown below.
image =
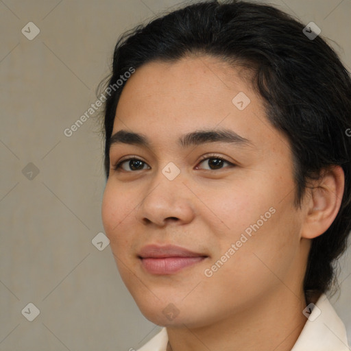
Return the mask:
[[147, 245], [138, 254], [147, 272], [160, 275], [173, 274], [203, 261], [206, 257], [208, 256], [175, 245]]

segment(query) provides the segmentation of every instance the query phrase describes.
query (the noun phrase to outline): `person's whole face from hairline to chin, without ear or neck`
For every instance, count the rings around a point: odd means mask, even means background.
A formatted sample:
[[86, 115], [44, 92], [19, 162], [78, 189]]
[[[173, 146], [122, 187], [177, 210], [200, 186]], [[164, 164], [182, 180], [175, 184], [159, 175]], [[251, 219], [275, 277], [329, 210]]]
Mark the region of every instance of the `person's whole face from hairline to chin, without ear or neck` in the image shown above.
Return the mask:
[[147, 319], [204, 326], [300, 292], [291, 149], [239, 69], [210, 57], [141, 66], [112, 136], [102, 219]]

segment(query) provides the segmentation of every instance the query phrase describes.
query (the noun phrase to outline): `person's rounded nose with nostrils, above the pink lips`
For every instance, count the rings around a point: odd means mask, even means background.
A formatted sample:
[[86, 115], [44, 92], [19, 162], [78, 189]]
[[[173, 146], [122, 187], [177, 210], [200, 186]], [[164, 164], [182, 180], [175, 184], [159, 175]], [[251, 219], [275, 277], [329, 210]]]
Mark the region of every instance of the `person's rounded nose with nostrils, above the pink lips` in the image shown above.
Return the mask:
[[167, 223], [182, 225], [191, 222], [195, 215], [194, 195], [183, 181], [181, 173], [169, 180], [160, 172], [152, 184], [145, 184], [145, 195], [136, 210], [138, 221], [160, 227]]

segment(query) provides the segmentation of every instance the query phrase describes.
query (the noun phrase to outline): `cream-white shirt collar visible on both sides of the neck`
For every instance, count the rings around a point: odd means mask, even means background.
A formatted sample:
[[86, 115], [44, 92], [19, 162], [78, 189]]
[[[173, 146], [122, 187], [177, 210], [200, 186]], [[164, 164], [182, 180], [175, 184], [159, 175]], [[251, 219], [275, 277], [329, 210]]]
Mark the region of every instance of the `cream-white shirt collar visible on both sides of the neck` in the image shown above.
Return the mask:
[[[325, 294], [315, 306], [291, 351], [350, 351], [346, 328]], [[166, 351], [167, 343], [167, 329], [162, 328], [138, 351]]]

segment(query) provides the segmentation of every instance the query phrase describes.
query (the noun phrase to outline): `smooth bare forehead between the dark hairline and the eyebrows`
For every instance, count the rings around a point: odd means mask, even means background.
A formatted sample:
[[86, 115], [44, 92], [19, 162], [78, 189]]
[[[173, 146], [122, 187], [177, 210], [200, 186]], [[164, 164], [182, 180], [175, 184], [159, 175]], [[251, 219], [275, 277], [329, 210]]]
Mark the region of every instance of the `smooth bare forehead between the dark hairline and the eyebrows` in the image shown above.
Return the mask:
[[149, 62], [125, 84], [112, 134], [129, 130], [167, 145], [194, 130], [226, 128], [261, 147], [287, 147], [242, 73], [211, 57]]

